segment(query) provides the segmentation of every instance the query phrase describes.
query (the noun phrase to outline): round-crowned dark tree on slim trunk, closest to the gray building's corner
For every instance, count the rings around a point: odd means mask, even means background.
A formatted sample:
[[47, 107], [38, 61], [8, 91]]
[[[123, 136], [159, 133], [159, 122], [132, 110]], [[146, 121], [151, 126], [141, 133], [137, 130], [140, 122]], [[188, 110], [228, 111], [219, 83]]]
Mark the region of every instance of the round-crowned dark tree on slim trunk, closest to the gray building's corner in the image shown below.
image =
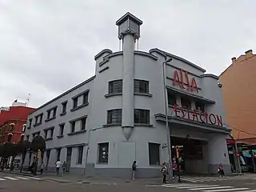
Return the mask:
[[37, 135], [31, 142], [30, 150], [35, 153], [35, 163], [34, 163], [34, 174], [37, 174], [38, 168], [38, 154], [41, 151], [41, 154], [46, 149], [46, 141], [42, 136]]

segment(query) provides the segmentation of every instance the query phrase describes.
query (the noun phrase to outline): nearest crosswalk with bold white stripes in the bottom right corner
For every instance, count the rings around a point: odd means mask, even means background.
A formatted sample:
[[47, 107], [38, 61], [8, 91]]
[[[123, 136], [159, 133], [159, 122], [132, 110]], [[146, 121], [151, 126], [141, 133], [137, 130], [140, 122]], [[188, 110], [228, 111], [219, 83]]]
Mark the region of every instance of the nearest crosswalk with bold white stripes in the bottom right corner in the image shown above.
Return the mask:
[[153, 185], [153, 186], [162, 186], [165, 188], [175, 188], [179, 190], [190, 190], [193, 191], [202, 191], [202, 192], [256, 192], [256, 190], [251, 190], [248, 187], [236, 187], [236, 186], [219, 186], [219, 185], [199, 185], [199, 184], [189, 184], [189, 183], [176, 183], [176, 184], [165, 184], [165, 185]]

